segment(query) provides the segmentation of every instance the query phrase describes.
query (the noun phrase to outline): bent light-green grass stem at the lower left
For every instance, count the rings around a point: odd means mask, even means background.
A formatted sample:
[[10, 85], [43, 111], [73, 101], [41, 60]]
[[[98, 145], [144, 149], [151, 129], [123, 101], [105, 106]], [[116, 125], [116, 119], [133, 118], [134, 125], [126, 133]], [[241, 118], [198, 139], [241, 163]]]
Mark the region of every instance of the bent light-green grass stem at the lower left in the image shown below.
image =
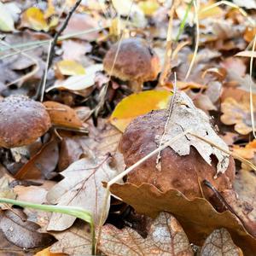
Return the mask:
[[94, 220], [90, 212], [85, 211], [79, 207], [65, 207], [65, 206], [49, 206], [49, 205], [38, 205], [26, 201], [17, 201], [13, 199], [0, 198], [0, 203], [11, 204], [19, 207], [27, 207], [32, 209], [41, 210], [44, 212], [59, 212], [63, 214], [68, 214], [76, 218], [81, 218], [87, 223], [90, 224], [90, 233], [91, 233], [91, 253], [96, 255], [96, 236], [95, 236], [95, 226]]

